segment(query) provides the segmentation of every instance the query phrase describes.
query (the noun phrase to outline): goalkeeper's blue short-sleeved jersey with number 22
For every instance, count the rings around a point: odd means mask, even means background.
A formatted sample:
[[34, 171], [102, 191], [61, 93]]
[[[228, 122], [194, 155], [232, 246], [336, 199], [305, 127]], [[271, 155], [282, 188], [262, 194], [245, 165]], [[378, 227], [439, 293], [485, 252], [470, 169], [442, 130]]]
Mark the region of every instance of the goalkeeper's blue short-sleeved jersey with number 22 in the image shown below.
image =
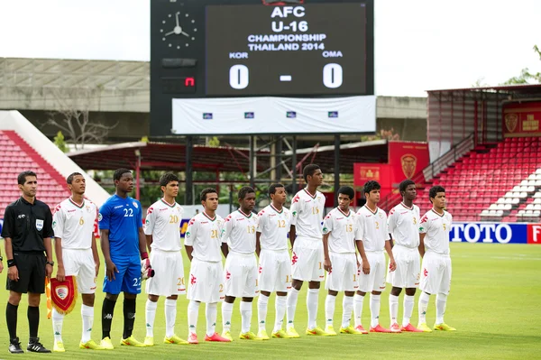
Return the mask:
[[100, 230], [109, 230], [109, 251], [113, 258], [139, 256], [141, 203], [134, 198], [113, 195], [99, 209]]

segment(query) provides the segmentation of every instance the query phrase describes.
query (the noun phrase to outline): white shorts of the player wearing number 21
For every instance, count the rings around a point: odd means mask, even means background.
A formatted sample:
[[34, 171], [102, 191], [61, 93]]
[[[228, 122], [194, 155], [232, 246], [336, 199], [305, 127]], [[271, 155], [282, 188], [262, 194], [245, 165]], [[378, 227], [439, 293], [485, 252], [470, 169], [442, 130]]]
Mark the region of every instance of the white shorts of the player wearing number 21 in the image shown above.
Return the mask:
[[222, 262], [204, 262], [194, 258], [189, 269], [188, 300], [213, 303], [224, 300]]

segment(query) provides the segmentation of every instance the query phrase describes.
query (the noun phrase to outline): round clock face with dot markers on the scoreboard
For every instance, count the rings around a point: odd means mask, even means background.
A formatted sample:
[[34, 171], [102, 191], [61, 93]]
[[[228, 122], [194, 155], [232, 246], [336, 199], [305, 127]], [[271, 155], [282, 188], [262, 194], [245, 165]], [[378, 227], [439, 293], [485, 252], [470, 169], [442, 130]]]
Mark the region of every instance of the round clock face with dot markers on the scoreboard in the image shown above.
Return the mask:
[[161, 20], [161, 42], [170, 49], [186, 49], [197, 39], [197, 23], [188, 12], [170, 13]]

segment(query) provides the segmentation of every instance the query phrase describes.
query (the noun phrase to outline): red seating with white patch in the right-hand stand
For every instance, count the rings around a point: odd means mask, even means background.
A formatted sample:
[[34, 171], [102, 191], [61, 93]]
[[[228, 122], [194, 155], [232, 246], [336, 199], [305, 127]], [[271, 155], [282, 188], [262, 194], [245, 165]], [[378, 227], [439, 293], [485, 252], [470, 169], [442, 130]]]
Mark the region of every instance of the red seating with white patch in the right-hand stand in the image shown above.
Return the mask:
[[[538, 221], [541, 138], [506, 138], [500, 143], [477, 146], [431, 181], [417, 181], [416, 204], [421, 213], [432, 207], [427, 192], [433, 185], [445, 188], [454, 220]], [[398, 203], [399, 198], [394, 202]]]

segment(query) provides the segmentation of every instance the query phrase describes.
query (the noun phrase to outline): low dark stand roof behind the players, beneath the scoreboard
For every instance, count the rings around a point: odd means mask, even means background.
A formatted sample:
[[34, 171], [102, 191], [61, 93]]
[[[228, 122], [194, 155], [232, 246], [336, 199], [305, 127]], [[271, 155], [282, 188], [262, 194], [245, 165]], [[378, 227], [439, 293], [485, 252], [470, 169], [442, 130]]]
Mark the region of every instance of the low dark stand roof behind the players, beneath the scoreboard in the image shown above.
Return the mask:
[[[138, 155], [139, 154], [139, 155]], [[292, 152], [282, 155], [289, 158]], [[257, 171], [270, 167], [270, 152], [256, 153]], [[135, 169], [141, 156], [142, 170], [186, 170], [186, 146], [179, 143], [118, 143], [103, 148], [69, 152], [68, 156], [84, 170]], [[386, 140], [340, 145], [340, 172], [353, 173], [353, 162], [387, 162]], [[249, 171], [250, 151], [232, 146], [193, 147], [194, 171]], [[335, 146], [315, 146], [297, 150], [298, 167], [316, 162], [326, 172], [334, 171]]]

